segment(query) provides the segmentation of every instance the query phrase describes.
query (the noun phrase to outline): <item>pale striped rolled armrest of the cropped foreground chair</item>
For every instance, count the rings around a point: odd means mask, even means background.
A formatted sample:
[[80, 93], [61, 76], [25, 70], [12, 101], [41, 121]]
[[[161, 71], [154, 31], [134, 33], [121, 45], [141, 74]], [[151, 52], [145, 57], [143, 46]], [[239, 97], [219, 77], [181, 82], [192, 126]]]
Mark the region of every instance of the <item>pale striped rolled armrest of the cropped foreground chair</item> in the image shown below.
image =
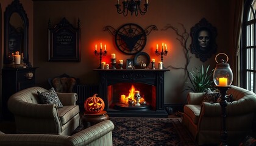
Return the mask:
[[[112, 130], [115, 128], [111, 120], [104, 120], [86, 128], [68, 138], [72, 145], [88, 145], [93, 141], [98, 145], [112, 145]], [[82, 141], [81, 141], [82, 139]]]

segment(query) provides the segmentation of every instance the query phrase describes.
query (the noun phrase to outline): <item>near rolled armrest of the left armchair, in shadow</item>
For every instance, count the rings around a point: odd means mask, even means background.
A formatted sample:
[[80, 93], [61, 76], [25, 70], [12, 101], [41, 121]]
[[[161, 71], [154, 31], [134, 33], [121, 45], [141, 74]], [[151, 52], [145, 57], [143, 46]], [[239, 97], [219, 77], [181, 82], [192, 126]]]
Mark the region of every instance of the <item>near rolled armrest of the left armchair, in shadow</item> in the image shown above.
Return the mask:
[[57, 106], [54, 104], [35, 104], [27, 102], [8, 102], [9, 110], [18, 116], [34, 118], [53, 118], [58, 116]]

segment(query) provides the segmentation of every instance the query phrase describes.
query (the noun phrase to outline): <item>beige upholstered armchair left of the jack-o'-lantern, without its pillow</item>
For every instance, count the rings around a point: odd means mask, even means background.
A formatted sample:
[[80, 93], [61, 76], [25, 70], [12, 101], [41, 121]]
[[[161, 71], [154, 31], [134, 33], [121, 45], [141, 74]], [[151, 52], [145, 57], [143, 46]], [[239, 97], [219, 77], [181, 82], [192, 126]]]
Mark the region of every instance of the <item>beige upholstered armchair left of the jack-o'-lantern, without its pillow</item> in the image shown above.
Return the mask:
[[40, 102], [38, 92], [48, 90], [35, 86], [13, 94], [8, 108], [15, 117], [17, 133], [70, 135], [80, 125], [76, 93], [59, 93], [63, 107]]

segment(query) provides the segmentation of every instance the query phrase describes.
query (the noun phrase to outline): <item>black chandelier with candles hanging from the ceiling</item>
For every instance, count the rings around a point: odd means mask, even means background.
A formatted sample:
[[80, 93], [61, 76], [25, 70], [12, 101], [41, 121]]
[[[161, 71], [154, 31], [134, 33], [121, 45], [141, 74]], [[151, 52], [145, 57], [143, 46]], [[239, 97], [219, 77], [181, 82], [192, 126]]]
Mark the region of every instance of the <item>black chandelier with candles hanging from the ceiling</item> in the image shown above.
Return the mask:
[[123, 0], [123, 10], [121, 10], [121, 5], [119, 4], [119, 0], [117, 0], [116, 9], [119, 14], [122, 14], [124, 16], [127, 16], [128, 11], [130, 11], [131, 15], [135, 13], [136, 16], [138, 16], [138, 12], [140, 12], [141, 15], [144, 15], [148, 10], [148, 0], [145, 0], [144, 9], [141, 10], [140, 3], [141, 0]]

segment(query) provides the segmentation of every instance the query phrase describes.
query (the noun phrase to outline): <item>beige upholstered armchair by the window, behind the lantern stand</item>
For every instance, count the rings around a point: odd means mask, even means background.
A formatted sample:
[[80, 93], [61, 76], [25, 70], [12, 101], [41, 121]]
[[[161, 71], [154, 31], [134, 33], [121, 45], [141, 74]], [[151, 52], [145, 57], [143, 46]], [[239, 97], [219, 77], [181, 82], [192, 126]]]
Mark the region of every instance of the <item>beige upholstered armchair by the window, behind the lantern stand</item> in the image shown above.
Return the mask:
[[[227, 94], [233, 101], [227, 103], [226, 130], [229, 145], [239, 145], [252, 131], [256, 113], [254, 92], [231, 86]], [[198, 145], [218, 145], [221, 131], [221, 106], [219, 103], [203, 102], [205, 92], [189, 92], [184, 106], [183, 125], [187, 127]]]

